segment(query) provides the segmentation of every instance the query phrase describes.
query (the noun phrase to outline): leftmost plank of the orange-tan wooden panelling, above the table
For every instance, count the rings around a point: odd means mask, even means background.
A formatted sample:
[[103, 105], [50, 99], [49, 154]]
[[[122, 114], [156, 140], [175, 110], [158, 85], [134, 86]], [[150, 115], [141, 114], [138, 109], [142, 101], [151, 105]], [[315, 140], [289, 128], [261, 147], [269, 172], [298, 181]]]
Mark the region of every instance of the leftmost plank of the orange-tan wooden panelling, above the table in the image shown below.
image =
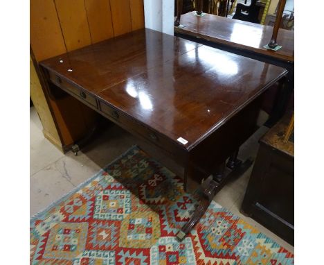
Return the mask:
[[30, 0], [30, 45], [37, 61], [66, 52], [53, 0]]

